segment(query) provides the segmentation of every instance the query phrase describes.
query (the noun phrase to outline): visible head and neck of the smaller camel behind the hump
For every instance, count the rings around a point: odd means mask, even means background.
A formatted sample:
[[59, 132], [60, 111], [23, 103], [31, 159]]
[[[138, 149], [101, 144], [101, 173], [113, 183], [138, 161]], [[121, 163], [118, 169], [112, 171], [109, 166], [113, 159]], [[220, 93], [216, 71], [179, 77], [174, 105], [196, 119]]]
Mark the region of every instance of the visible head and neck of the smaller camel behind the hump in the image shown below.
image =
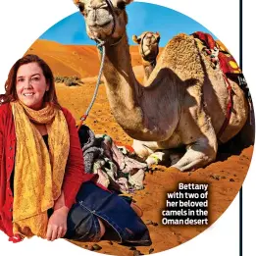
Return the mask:
[[143, 32], [139, 36], [132, 35], [134, 43], [139, 45], [139, 54], [144, 68], [144, 84], [156, 67], [156, 59], [159, 53], [159, 32]]

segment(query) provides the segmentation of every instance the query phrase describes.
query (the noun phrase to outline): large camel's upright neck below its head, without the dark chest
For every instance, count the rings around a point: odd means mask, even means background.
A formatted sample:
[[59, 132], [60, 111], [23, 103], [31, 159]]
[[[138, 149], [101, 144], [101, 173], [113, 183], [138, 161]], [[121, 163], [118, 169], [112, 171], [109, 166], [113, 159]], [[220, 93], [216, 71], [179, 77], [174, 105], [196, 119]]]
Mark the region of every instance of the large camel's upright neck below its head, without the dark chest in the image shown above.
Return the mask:
[[141, 128], [142, 113], [137, 101], [141, 88], [132, 71], [127, 34], [118, 44], [106, 46], [103, 74], [117, 122], [127, 130]]

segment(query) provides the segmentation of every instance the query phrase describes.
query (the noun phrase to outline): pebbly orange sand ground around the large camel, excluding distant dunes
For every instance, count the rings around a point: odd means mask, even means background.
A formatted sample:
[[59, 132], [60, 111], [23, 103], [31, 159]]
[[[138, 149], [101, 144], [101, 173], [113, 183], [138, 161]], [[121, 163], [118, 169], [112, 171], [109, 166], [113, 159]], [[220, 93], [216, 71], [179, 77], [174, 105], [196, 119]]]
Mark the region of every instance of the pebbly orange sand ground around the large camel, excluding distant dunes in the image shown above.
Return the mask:
[[[80, 87], [67, 87], [58, 84], [60, 103], [72, 111], [76, 119], [89, 104], [94, 89], [94, 83]], [[107, 133], [115, 140], [131, 144], [132, 139], [115, 122], [106, 98], [104, 84], [100, 85], [95, 104], [86, 120], [95, 133]], [[143, 210], [142, 220], [145, 223], [157, 223], [158, 226], [148, 225], [153, 244], [149, 247], [138, 246], [143, 254], [148, 254], [151, 248], [155, 252], [168, 250], [193, 238], [213, 224], [229, 207], [239, 191], [248, 171], [253, 146], [243, 149], [239, 154], [220, 153], [215, 163], [200, 168], [195, 172], [180, 173], [178, 170], [165, 166], [154, 166], [153, 172], [146, 173], [145, 188], [137, 191], [132, 198]], [[207, 227], [165, 227], [161, 225], [161, 212], [165, 207], [166, 193], [177, 189], [179, 182], [209, 183], [209, 226]], [[87, 248], [94, 243], [77, 243]], [[111, 255], [133, 255], [129, 247], [111, 244], [108, 241], [98, 242], [102, 249], [100, 253]]]

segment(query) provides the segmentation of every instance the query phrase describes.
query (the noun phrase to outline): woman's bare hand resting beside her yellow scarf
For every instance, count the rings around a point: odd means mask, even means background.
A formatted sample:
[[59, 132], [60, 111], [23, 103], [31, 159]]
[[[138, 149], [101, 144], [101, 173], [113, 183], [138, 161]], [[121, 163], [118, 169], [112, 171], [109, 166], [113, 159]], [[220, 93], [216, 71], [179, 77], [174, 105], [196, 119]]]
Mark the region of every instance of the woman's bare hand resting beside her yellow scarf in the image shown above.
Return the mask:
[[53, 241], [65, 235], [67, 231], [68, 213], [69, 208], [66, 206], [63, 206], [53, 212], [47, 226], [46, 239], [48, 241]]

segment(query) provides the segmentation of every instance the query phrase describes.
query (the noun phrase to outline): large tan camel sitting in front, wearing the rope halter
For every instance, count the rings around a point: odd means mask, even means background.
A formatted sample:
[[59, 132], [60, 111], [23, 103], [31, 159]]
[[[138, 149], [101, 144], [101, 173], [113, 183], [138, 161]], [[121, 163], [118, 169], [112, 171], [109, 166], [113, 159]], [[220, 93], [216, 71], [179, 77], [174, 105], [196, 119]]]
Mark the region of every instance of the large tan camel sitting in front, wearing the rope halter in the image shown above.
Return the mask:
[[117, 123], [133, 138], [135, 153], [146, 159], [155, 151], [183, 147], [185, 153], [171, 166], [181, 172], [215, 161], [219, 141], [230, 140], [248, 117], [248, 103], [239, 86], [229, 79], [230, 120], [217, 137], [226, 120], [227, 81], [220, 68], [211, 67], [192, 35], [180, 33], [167, 43], [142, 86], [132, 71], [126, 31], [126, 6], [132, 0], [74, 2], [88, 36], [104, 42], [108, 100]]

